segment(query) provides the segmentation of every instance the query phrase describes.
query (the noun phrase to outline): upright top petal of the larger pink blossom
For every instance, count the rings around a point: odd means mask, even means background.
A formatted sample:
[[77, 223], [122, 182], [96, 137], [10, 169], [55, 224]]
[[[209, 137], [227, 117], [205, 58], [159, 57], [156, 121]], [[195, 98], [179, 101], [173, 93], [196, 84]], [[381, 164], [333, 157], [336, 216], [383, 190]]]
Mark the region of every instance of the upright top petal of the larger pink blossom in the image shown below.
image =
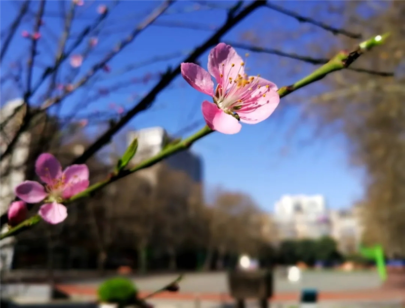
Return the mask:
[[226, 90], [231, 86], [229, 78], [235, 80], [238, 74], [242, 76], [245, 74], [243, 62], [230, 45], [219, 43], [208, 56], [208, 71], [214, 76], [217, 83]]

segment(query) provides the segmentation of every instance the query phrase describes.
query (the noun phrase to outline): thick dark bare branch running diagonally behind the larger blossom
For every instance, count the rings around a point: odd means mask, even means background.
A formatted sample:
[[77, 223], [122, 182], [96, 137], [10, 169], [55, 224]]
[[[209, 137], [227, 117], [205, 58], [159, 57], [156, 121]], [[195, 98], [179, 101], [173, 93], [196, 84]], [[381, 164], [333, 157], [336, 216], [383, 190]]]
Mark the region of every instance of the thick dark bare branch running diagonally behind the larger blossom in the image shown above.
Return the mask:
[[[250, 13], [256, 10], [259, 7], [262, 7], [265, 4], [264, 1], [254, 1], [249, 6], [241, 10], [237, 15], [232, 16], [228, 15], [228, 19], [224, 25], [217, 30], [208, 40], [197, 47], [194, 52], [189, 55], [182, 62], [195, 62], [197, 58], [202, 55], [208, 48], [219, 43], [220, 38], [227, 33], [233, 26], [235, 26], [239, 21], [247, 17]], [[160, 91], [164, 90], [169, 84], [180, 74], [180, 65], [174, 70], [169, 70], [157, 83], [157, 85], [150, 90], [150, 92], [131, 110], [129, 110], [123, 118], [119, 120], [117, 124], [108, 129], [102, 136], [100, 136], [86, 151], [82, 156], [78, 157], [73, 161], [73, 164], [82, 164], [86, 162], [94, 153], [96, 153], [101, 147], [108, 143], [112, 136], [118, 132], [125, 124], [127, 124], [135, 115], [139, 112], [142, 112], [148, 109], [155, 97]]]

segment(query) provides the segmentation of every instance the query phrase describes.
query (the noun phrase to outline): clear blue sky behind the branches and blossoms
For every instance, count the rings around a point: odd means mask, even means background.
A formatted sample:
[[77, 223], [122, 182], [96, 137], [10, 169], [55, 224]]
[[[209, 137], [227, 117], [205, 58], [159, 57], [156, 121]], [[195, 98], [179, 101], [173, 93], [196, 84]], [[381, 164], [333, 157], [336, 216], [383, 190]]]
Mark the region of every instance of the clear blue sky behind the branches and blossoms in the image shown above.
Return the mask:
[[[63, 66], [63, 74], [66, 76], [70, 73], [76, 73], [77, 76], [74, 81], [77, 81], [94, 63], [100, 61], [117, 42], [126, 37], [131, 29], [142, 20], [146, 12], [150, 12], [159, 3], [159, 1], [124, 1], [118, 4], [111, 10], [107, 21], [101, 25], [102, 30], [99, 33], [93, 33], [93, 35], [97, 34], [99, 45], [86, 59], [83, 66], [78, 71], [72, 71], [67, 61]], [[232, 2], [212, 3], [225, 7]], [[305, 13], [309, 14], [310, 10], [319, 3], [321, 2], [291, 1], [277, 4], [282, 4], [286, 8], [305, 15]], [[1, 2], [2, 33], [12, 22], [19, 4], [19, 2]], [[91, 24], [92, 20], [97, 18], [96, 8], [99, 4], [106, 4], [109, 7], [113, 5], [112, 2], [85, 1], [83, 7], [77, 8], [77, 20], [74, 21], [72, 27], [73, 34], [77, 34], [83, 26]], [[66, 1], [66, 10], [69, 5], [70, 2]], [[37, 3], [34, 2], [31, 8], [35, 12]], [[159, 21], [182, 25], [198, 24], [207, 28], [215, 28], [221, 25], [226, 18], [224, 10], [196, 10], [196, 8], [194, 2], [178, 2]], [[40, 65], [50, 65], [54, 60], [57, 49], [56, 38], [60, 36], [63, 27], [62, 19], [58, 17], [60, 16], [60, 9], [59, 2], [50, 1], [47, 3], [44, 17], [45, 25], [42, 30], [43, 37], [38, 43], [37, 62]], [[332, 18], [328, 14], [321, 14], [319, 19], [328, 22]], [[2, 76], [7, 63], [12, 61], [24, 63], [23, 61], [27, 59], [29, 41], [24, 40], [20, 33], [24, 29], [31, 31], [32, 24], [33, 20], [27, 18], [18, 29], [5, 58], [5, 64], [2, 63]], [[325, 40], [325, 37], [330, 40], [337, 40], [328, 33], [322, 33], [320, 29], [293, 40], [283, 41], [279, 39], [280, 35], [277, 35], [282, 31], [293, 33], [298, 31], [300, 27], [302, 25], [293, 18], [261, 8], [225, 35], [223, 41], [241, 42], [242, 33], [253, 30], [258, 36], [265, 37], [265, 40], [260, 42], [262, 46], [307, 54], [305, 46], [308, 40]], [[109, 62], [110, 73], [102, 71], [97, 73], [97, 83], [77, 91], [66, 99], [61, 110], [62, 116], [69, 115], [77, 106], [83, 106], [84, 102], [88, 100], [86, 97], [95, 95], [99, 88], [108, 88], [120, 82], [128, 83], [134, 78], [139, 80], [145, 74], [165, 71], [168, 65], [172, 65], [172, 67], [177, 65], [187, 52], [201, 44], [211, 33], [208, 30], [161, 25], [150, 26]], [[274, 35], [274, 39], [272, 35]], [[73, 39], [69, 40], [68, 46], [72, 42]], [[331, 41], [332, 43], [334, 42]], [[85, 47], [86, 44], [80, 45], [73, 54], [82, 53]], [[243, 50], [237, 51], [240, 55], [246, 53]], [[128, 65], [172, 53], [183, 53], [183, 55], [124, 73]], [[207, 55], [208, 52], [200, 57], [200, 62], [205, 68], [207, 67]], [[321, 54], [315, 56], [321, 56]], [[287, 63], [291, 66], [300, 64], [295, 60], [288, 61]], [[304, 65], [299, 73], [291, 74], [281, 65], [279, 57], [255, 54], [250, 55], [247, 66], [251, 69], [252, 74], [260, 73], [279, 87], [299, 80], [315, 68], [312, 65]], [[34, 80], [39, 78], [43, 69], [43, 67], [37, 67], [34, 70]], [[153, 87], [155, 82], [155, 80], [147, 84], [134, 82], [131, 86], [119, 89], [107, 97], [93, 100], [91, 104], [79, 112], [76, 119], [83, 119], [98, 111], [107, 112], [110, 117], [118, 117], [116, 111], [109, 107], [111, 103], [129, 109], [138, 101], [140, 96]], [[38, 95], [32, 99], [34, 104], [41, 103], [40, 94], [44, 93], [45, 90], [46, 87], [39, 89]], [[311, 96], [311, 94], [323, 90], [326, 90], [325, 87], [311, 85], [307, 89], [299, 91], [298, 95], [291, 95], [288, 100], [299, 106], [299, 103], [303, 101], [303, 96]], [[179, 76], [171, 87], [160, 93], [152, 108], [134, 118], [125, 130], [163, 126], [169, 133], [175, 133], [198, 120], [201, 121], [202, 126], [204, 122], [200, 113], [200, 104], [204, 99], [207, 99], [204, 94], [196, 92]], [[281, 103], [283, 102], [284, 100]], [[289, 107], [284, 112], [276, 110], [263, 123], [254, 126], [244, 125], [239, 134], [214, 133], [196, 143], [192, 150], [203, 158], [207, 193], [209, 194], [212, 188], [217, 186], [245, 191], [252, 195], [261, 208], [268, 211], [273, 210], [274, 203], [284, 194], [323, 194], [332, 208], [347, 207], [358, 200], [362, 194], [361, 176], [358, 171], [348, 167], [342, 138], [337, 136], [336, 138], [314, 139], [305, 147], [300, 147], [297, 140], [301, 137], [311, 136], [312, 131], [312, 127], [304, 123], [298, 127], [293, 140], [286, 140], [286, 131], [297, 118], [298, 111], [299, 107]], [[96, 138], [101, 128], [100, 126], [92, 126], [92, 122], [90, 122], [89, 136]], [[281, 155], [280, 150], [286, 145], [290, 147], [290, 151], [287, 155]]]

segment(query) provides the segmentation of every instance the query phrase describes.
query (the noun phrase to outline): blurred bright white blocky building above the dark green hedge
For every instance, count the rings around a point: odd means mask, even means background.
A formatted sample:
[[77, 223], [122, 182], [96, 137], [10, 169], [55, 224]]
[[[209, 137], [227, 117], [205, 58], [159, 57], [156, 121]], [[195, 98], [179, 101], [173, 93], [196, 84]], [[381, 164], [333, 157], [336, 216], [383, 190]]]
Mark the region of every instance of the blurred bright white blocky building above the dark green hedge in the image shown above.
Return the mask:
[[282, 196], [275, 204], [274, 220], [279, 240], [330, 235], [331, 222], [325, 197], [321, 195]]

